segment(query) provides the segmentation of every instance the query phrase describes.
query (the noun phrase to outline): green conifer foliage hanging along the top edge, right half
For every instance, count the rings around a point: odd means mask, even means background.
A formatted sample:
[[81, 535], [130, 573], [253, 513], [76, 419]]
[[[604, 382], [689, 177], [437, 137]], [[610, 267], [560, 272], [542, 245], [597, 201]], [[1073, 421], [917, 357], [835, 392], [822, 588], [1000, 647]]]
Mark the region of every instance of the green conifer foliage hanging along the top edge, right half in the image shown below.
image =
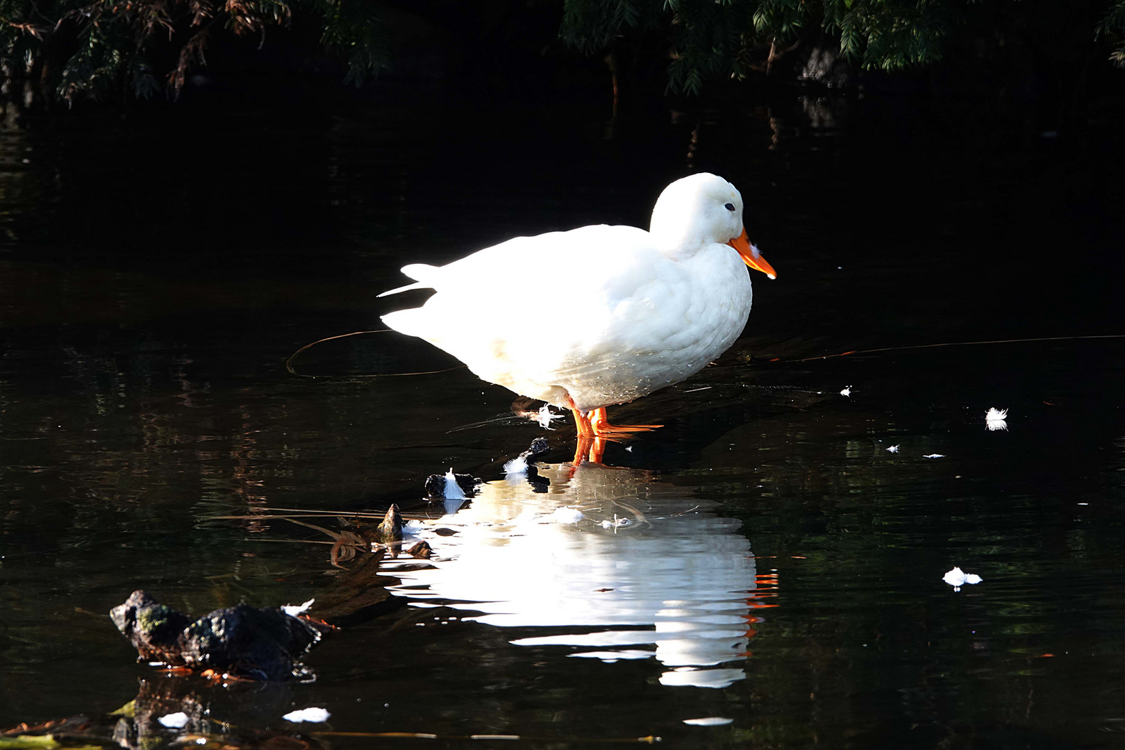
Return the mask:
[[[768, 70], [778, 52], [807, 34], [827, 33], [865, 69], [926, 65], [943, 40], [974, 12], [972, 0], [565, 0], [562, 39], [593, 53], [632, 30], [660, 29], [672, 58], [668, 88], [699, 93], [706, 79], [744, 79]], [[1094, 30], [1091, 29], [1091, 33]], [[1097, 29], [1118, 44], [1125, 65], [1125, 0], [1112, 3]]]

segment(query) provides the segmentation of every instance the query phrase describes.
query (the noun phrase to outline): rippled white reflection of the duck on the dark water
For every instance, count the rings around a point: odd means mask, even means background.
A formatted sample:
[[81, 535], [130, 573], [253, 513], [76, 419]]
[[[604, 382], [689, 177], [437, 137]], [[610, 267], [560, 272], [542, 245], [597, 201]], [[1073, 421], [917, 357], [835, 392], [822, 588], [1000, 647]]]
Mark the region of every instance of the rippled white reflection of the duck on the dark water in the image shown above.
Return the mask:
[[[574, 629], [512, 641], [519, 645], [577, 647], [570, 656], [605, 661], [656, 657], [669, 667], [665, 685], [742, 679], [741, 669], [714, 668], [745, 658], [759, 622], [752, 611], [766, 606], [740, 522], [637, 470], [552, 464], [540, 473], [550, 479], [546, 494], [488, 482], [466, 507], [417, 531], [435, 567], [396, 573], [399, 593], [452, 599], [484, 613], [466, 620], [500, 627]], [[585, 517], [555, 522], [564, 506]], [[620, 648], [649, 644], [655, 650]]]

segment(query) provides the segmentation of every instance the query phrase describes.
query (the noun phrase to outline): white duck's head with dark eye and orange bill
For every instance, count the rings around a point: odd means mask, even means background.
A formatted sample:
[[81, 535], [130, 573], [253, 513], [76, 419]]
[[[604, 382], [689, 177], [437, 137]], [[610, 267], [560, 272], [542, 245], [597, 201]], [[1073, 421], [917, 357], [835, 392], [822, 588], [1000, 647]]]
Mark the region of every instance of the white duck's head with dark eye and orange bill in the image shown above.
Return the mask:
[[741, 193], [717, 174], [700, 172], [665, 188], [652, 208], [648, 231], [672, 254], [692, 254], [712, 244], [730, 245], [752, 269], [777, 278], [746, 236]]

